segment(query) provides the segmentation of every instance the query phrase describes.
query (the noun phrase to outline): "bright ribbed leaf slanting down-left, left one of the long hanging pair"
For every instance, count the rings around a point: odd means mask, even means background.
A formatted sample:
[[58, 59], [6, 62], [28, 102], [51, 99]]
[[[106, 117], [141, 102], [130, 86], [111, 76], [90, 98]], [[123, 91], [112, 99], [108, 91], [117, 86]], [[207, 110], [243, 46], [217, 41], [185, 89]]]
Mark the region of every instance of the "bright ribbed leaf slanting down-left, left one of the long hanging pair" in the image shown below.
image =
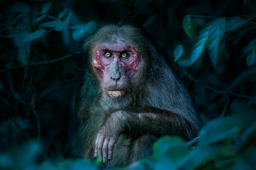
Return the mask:
[[197, 35], [197, 41], [194, 44], [193, 51], [190, 58], [190, 65], [195, 63], [198, 58], [202, 55], [207, 43], [208, 35], [212, 25], [210, 23], [203, 26]]

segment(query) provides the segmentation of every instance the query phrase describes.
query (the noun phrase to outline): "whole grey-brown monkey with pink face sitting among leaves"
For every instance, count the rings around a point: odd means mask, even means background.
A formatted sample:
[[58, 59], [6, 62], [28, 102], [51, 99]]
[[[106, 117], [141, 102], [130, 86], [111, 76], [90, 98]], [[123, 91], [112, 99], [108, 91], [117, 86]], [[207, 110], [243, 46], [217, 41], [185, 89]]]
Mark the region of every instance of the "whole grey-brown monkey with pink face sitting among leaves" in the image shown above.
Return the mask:
[[77, 154], [102, 168], [152, 155], [162, 136], [190, 141], [202, 127], [195, 102], [154, 38], [132, 24], [106, 24], [83, 44], [77, 92]]

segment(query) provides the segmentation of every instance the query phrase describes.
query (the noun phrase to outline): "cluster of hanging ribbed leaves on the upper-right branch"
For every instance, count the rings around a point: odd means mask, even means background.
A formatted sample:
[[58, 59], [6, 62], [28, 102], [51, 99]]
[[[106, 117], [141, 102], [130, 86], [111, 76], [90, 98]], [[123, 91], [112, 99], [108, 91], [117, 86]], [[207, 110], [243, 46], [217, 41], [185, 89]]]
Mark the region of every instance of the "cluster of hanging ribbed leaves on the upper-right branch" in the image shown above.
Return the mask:
[[[194, 64], [199, 59], [199, 57], [202, 55], [206, 46], [207, 46], [207, 50], [209, 52], [209, 56], [212, 60], [214, 68], [216, 68], [216, 65], [218, 62], [219, 52], [221, 53], [222, 58], [226, 58], [226, 57], [229, 58], [226, 47], [225, 47], [225, 43], [226, 41], [231, 40], [237, 36], [230, 38], [228, 40], [224, 40], [220, 44], [222, 36], [229, 31], [239, 30], [245, 24], [247, 24], [247, 26], [249, 25], [254, 25], [254, 26], [251, 26], [249, 29], [244, 30], [244, 32], [240, 32], [239, 37], [241, 35], [244, 35], [248, 30], [256, 28], [255, 26], [256, 22], [248, 21], [255, 18], [254, 11], [252, 11], [251, 15], [247, 18], [247, 20], [240, 18], [239, 16], [234, 18], [209, 17], [209, 18], [216, 18], [216, 19], [205, 24], [197, 34], [196, 39], [192, 36], [196, 32], [196, 25], [191, 20], [191, 17], [193, 17], [193, 15], [186, 15], [183, 19], [182, 27], [185, 33], [192, 40], [195, 41], [194, 49], [192, 51], [191, 58], [190, 58], [191, 60], [190, 65]], [[204, 17], [204, 16], [194, 16], [194, 17]], [[239, 39], [237, 40], [239, 41]], [[252, 67], [255, 62], [255, 48], [256, 48], [255, 40], [252, 40], [252, 42], [247, 47], [245, 47], [245, 49], [242, 51], [242, 55], [243, 56], [246, 55], [248, 67]]]

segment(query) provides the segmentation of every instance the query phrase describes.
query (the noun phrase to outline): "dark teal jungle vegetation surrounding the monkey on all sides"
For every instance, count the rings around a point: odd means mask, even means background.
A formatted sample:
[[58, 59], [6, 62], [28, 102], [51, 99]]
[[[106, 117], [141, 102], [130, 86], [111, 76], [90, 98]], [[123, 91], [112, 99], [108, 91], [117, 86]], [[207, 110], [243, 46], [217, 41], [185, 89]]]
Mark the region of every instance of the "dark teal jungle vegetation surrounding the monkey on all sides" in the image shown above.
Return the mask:
[[98, 169], [72, 158], [80, 47], [97, 26], [130, 22], [167, 49], [204, 127], [190, 142], [160, 138], [152, 156], [124, 169], [254, 169], [256, 2], [190, 3], [0, 2], [0, 168]]

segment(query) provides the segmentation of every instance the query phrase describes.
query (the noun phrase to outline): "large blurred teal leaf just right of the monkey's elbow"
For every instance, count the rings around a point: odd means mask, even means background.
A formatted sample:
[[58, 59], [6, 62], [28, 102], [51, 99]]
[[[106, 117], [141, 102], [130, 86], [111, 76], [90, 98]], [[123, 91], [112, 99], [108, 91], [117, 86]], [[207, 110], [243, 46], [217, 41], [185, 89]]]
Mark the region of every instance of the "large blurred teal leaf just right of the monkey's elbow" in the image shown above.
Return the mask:
[[224, 139], [229, 142], [238, 132], [238, 123], [235, 119], [231, 117], [213, 119], [200, 130], [198, 146], [209, 145]]

